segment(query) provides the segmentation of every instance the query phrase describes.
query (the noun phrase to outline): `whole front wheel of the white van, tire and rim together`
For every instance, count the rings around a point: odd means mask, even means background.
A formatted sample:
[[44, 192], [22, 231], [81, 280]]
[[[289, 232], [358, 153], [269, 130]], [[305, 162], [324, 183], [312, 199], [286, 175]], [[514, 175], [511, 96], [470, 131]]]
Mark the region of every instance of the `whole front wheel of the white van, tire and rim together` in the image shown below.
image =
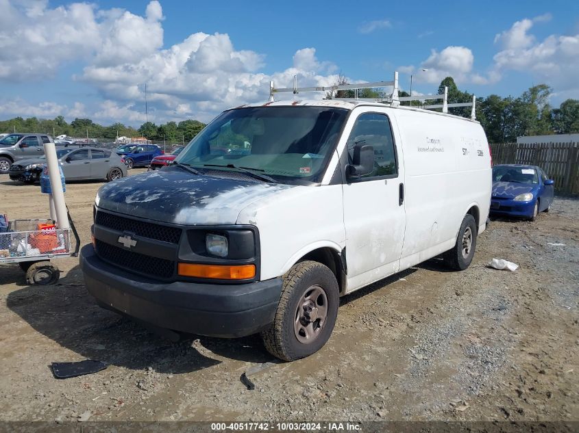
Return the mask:
[[[284, 275], [273, 323], [261, 333], [265, 348], [286, 361], [314, 354], [330, 339], [338, 304], [338, 282], [332, 271], [316, 261], [297, 263]], [[324, 305], [325, 317], [320, 317]]]

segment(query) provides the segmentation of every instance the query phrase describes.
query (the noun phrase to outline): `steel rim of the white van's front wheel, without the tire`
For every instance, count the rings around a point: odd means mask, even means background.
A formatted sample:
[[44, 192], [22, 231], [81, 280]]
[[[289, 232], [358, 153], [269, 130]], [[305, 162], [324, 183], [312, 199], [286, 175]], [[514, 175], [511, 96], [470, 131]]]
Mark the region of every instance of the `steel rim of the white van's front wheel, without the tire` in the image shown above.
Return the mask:
[[310, 344], [317, 340], [328, 317], [328, 296], [318, 285], [309, 287], [295, 309], [293, 331], [297, 341]]

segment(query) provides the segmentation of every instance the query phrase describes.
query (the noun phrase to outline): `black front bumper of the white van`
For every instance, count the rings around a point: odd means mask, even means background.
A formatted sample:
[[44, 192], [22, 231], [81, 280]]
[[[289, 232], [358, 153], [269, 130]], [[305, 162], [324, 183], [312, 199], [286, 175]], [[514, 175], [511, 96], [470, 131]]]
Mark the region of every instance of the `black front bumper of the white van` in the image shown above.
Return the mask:
[[108, 309], [143, 322], [209, 337], [243, 337], [266, 329], [280, 301], [282, 279], [238, 285], [159, 283], [105, 263], [92, 245], [80, 266], [88, 292]]

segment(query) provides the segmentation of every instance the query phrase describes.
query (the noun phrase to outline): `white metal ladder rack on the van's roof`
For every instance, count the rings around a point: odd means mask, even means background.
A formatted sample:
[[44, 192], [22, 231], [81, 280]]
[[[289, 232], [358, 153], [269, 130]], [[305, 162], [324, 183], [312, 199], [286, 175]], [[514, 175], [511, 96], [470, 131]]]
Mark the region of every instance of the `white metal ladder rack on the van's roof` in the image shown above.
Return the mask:
[[[358, 89], [384, 88], [392, 86], [393, 90], [386, 98], [358, 98]], [[427, 99], [442, 99], [442, 104], [423, 105], [423, 109], [442, 108], [443, 113], [448, 113], [449, 108], [472, 107], [471, 119], [476, 120], [476, 96], [473, 95], [472, 102], [467, 103], [448, 103], [448, 88], [445, 86], [443, 94], [423, 94], [415, 96], [398, 96], [398, 73], [394, 73], [393, 81], [375, 81], [373, 83], [358, 84], [341, 84], [339, 86], [319, 86], [319, 87], [297, 87], [297, 75], [293, 76], [293, 88], [275, 88], [273, 81], [269, 81], [269, 101], [275, 101], [276, 93], [293, 93], [299, 92], [334, 92], [337, 90], [354, 90], [355, 98], [335, 98], [336, 101], [365, 101], [390, 103], [392, 107], [398, 107], [404, 101], [425, 101]]]

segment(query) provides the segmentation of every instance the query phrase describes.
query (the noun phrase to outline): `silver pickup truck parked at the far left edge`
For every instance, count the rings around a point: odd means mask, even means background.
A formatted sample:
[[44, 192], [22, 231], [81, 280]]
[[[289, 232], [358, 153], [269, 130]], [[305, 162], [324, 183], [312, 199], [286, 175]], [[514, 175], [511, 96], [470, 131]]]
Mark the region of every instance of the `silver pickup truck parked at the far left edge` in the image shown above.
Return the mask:
[[0, 174], [8, 173], [14, 161], [44, 155], [45, 143], [53, 143], [47, 134], [14, 133], [0, 140]]

